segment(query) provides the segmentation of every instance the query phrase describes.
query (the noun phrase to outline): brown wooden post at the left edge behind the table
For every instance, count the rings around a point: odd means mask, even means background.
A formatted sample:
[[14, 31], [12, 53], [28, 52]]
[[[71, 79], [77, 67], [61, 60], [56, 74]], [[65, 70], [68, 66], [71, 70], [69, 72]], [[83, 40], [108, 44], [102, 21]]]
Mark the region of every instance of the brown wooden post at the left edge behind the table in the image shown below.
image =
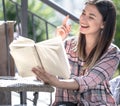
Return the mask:
[[[7, 21], [7, 22], [0, 21], [0, 76], [15, 75], [14, 62], [9, 54], [9, 48], [8, 48], [9, 43], [14, 39], [13, 36], [14, 24], [15, 24], [14, 21]], [[5, 25], [7, 27], [5, 27]], [[7, 35], [6, 35], [6, 31], [7, 31]], [[7, 43], [6, 43], [6, 37], [8, 37]], [[8, 67], [10, 69], [9, 70], [10, 72], [8, 72]], [[10, 105], [10, 104], [11, 104], [11, 93], [0, 91], [0, 105]]]

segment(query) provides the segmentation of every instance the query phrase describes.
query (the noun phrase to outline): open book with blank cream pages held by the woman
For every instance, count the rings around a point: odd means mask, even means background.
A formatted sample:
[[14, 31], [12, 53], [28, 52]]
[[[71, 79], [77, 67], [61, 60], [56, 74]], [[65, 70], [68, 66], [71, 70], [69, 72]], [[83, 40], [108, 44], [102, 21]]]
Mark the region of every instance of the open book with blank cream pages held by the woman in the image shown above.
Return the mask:
[[13, 40], [9, 45], [18, 74], [22, 77], [35, 76], [31, 71], [35, 66], [61, 78], [70, 77], [70, 66], [61, 37], [35, 43], [25, 37]]

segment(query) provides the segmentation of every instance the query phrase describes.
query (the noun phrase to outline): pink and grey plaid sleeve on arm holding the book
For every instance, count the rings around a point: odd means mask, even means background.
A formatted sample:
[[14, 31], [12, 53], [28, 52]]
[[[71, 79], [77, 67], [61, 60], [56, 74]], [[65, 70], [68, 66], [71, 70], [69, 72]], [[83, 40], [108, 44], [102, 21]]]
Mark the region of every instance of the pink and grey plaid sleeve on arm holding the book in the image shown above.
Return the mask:
[[82, 77], [74, 79], [79, 84], [79, 91], [84, 92], [88, 89], [95, 88], [105, 80], [110, 80], [118, 67], [120, 61], [120, 51], [117, 48], [109, 49], [97, 62], [97, 64], [88, 70], [88, 73]]

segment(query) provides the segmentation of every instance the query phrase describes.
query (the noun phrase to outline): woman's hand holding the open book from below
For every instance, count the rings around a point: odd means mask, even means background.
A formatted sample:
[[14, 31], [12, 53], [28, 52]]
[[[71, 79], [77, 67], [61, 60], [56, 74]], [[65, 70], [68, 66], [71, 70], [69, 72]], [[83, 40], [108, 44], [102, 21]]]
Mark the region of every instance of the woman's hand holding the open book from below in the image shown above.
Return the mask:
[[38, 80], [42, 80], [44, 83], [57, 86], [59, 81], [57, 77], [47, 73], [42, 67], [33, 67], [32, 71], [37, 76]]

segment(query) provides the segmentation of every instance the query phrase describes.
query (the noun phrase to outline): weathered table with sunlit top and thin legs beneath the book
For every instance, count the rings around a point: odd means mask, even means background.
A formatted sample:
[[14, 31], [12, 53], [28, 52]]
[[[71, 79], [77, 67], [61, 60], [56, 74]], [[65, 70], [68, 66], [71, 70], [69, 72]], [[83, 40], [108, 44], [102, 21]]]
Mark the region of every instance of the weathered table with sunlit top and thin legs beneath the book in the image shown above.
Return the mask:
[[0, 91], [6, 92], [19, 92], [20, 93], [20, 104], [26, 104], [26, 98], [24, 93], [27, 91], [32, 91], [34, 93], [33, 104], [36, 104], [36, 99], [38, 99], [38, 92], [50, 92], [50, 105], [52, 103], [52, 92], [54, 88], [50, 85], [43, 84], [33, 78], [15, 78], [11, 76], [0, 77]]

